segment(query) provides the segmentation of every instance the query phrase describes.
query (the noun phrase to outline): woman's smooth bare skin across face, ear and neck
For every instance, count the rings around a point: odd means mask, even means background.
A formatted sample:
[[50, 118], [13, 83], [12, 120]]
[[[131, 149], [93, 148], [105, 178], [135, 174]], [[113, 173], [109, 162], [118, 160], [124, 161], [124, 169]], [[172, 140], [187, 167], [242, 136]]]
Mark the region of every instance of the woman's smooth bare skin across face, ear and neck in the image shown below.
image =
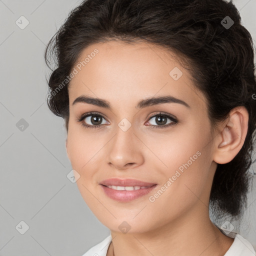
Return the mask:
[[[94, 49], [98, 53], [79, 70], [69, 84], [69, 123], [66, 150], [72, 168], [79, 173], [76, 183], [95, 216], [111, 231], [107, 256], [224, 255], [233, 242], [209, 218], [209, 194], [217, 163], [227, 163], [241, 149], [248, 112], [240, 106], [229, 118], [212, 129], [206, 98], [196, 90], [177, 56], [166, 49], [138, 42], [95, 43], [85, 48], [77, 60]], [[182, 75], [174, 80], [169, 72], [178, 67]], [[111, 109], [77, 102], [86, 95], [104, 99]], [[171, 95], [185, 101], [136, 108], [139, 100]], [[95, 111], [102, 115], [101, 126], [86, 128], [77, 118]], [[149, 116], [159, 111], [176, 117], [165, 127]], [[118, 123], [126, 118], [131, 126], [123, 131]], [[94, 125], [91, 116], [83, 119]], [[158, 126], [159, 128], [153, 128]], [[158, 197], [148, 197], [172, 177], [197, 151], [200, 156]], [[134, 178], [157, 183], [149, 194], [129, 202], [105, 195], [100, 181]], [[130, 229], [123, 233], [119, 225]], [[123, 224], [122, 224], [123, 225]]]

